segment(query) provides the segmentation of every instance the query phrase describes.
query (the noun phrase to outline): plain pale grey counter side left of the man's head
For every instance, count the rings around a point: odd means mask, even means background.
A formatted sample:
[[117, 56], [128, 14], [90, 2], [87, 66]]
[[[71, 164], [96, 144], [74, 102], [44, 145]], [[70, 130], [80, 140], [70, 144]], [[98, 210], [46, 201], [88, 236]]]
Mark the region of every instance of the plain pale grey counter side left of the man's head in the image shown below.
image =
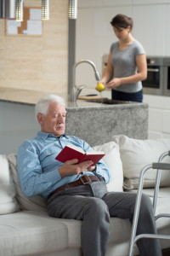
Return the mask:
[[34, 106], [0, 102], [0, 154], [17, 153], [20, 143], [40, 130]]

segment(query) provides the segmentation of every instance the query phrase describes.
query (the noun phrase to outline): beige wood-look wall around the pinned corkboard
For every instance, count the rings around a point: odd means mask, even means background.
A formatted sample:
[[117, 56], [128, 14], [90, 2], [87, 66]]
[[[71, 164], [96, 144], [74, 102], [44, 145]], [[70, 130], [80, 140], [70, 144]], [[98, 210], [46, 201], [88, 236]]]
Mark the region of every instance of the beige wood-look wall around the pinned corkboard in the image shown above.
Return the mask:
[[[41, 7], [41, 0], [25, 6]], [[0, 19], [0, 86], [67, 92], [67, 0], [50, 0], [50, 20], [43, 20], [42, 36], [5, 35]]]

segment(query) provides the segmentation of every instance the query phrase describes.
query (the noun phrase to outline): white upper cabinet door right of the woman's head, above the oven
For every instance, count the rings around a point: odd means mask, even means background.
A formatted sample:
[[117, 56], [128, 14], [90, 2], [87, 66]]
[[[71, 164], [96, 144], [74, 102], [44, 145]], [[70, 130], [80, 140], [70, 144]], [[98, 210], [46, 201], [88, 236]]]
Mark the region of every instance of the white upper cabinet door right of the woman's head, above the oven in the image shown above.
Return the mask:
[[164, 55], [165, 5], [133, 6], [133, 35], [147, 55]]

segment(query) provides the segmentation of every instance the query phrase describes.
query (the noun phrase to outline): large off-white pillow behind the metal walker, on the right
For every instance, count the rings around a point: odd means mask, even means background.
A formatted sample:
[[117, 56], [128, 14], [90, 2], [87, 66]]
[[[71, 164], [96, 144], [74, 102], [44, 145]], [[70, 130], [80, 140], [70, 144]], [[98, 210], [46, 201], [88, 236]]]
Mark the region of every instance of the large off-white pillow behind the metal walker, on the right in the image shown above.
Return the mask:
[[[125, 189], [137, 189], [142, 168], [157, 162], [162, 153], [170, 150], [170, 139], [139, 140], [120, 135], [113, 137], [113, 141], [120, 148]], [[170, 157], [164, 158], [163, 162], [170, 163]], [[153, 188], [155, 180], [156, 171], [150, 169], [144, 175], [144, 188]], [[160, 185], [170, 186], [169, 171], [161, 171]]]

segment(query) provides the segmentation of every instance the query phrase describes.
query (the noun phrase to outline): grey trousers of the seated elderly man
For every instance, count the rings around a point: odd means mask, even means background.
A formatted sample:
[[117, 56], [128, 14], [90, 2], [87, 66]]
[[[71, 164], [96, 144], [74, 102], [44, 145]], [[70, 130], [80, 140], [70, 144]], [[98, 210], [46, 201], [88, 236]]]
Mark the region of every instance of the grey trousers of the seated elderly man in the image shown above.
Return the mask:
[[[110, 217], [128, 218], [132, 223], [135, 201], [135, 193], [107, 192], [104, 183], [93, 182], [53, 195], [48, 200], [48, 214], [54, 218], [82, 220], [83, 256], [105, 256]], [[153, 208], [147, 195], [142, 196], [137, 233], [156, 234]], [[137, 245], [140, 256], [161, 256], [157, 239], [140, 239]]]

